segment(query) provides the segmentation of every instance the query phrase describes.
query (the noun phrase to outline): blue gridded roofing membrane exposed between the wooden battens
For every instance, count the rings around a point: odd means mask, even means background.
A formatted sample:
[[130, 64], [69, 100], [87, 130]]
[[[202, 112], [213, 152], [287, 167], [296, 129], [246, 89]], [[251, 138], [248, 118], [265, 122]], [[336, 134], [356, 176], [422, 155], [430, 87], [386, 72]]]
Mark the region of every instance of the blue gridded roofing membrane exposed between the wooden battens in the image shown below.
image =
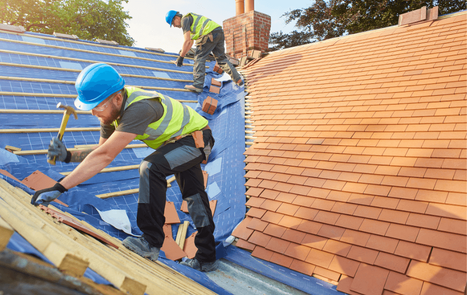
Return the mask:
[[[0, 33], [0, 50], [10, 51], [0, 52], [0, 62], [10, 63], [8, 65], [0, 65], [0, 76], [8, 77], [8, 79], [0, 79], [0, 108], [13, 110], [56, 110], [58, 102], [73, 106], [76, 89], [69, 82], [74, 82], [79, 74], [79, 70], [94, 61], [122, 63], [125, 66], [115, 66], [119, 73], [147, 76], [148, 78], [124, 77], [127, 85], [141, 86], [142, 88], [164, 87], [183, 89], [184, 85], [189, 84], [150, 79], [149, 77], [193, 79], [193, 76], [190, 74], [165, 71], [192, 71], [191, 66], [177, 68], [173, 63], [160, 62], [175, 60], [175, 54], [174, 58], [172, 58], [154, 55], [150, 52], [134, 52], [131, 51], [132, 48], [123, 49], [119, 46], [108, 48], [96, 46], [97, 44], [94, 42], [74, 43], [59, 38], [57, 40], [48, 40], [41, 38], [43, 36], [53, 38], [53, 36], [44, 34], [21, 36]], [[79, 51], [73, 49], [79, 49]], [[137, 50], [146, 51], [144, 49]], [[12, 51], [21, 54], [11, 53]], [[109, 53], [112, 55], [108, 55]], [[50, 57], [38, 57], [34, 56], [34, 54], [44, 54]], [[135, 59], [135, 57], [145, 59]], [[70, 59], [83, 59], [89, 60], [89, 62]], [[192, 63], [188, 59], [187, 63], [189, 62]], [[243, 152], [245, 150], [244, 89], [228, 81], [223, 82], [219, 94], [207, 92], [210, 87], [211, 78], [221, 76], [211, 70], [214, 63], [206, 63], [209, 69], [206, 69], [207, 76], [203, 93], [198, 94], [174, 90], [159, 90], [158, 92], [175, 99], [197, 101], [197, 103], [184, 104], [191, 106], [209, 120], [215, 145], [209, 156], [208, 163], [202, 165], [202, 168], [209, 174], [206, 189], [209, 200], [217, 200], [214, 214], [214, 222], [216, 224], [214, 236], [217, 242], [221, 242], [231, 235], [234, 227], [243, 219], [245, 214], [245, 180], [243, 178], [243, 168], [245, 166], [243, 163]], [[28, 67], [28, 65], [31, 67]], [[155, 67], [162, 70], [155, 71], [154, 69], [137, 68], [133, 67], [133, 65]], [[38, 68], [37, 66], [40, 67]], [[16, 80], [15, 78], [18, 79]], [[28, 81], [28, 79], [48, 79], [57, 82]], [[68, 81], [68, 83], [63, 83], [62, 81]], [[36, 93], [37, 96], [31, 96], [28, 93]], [[62, 94], [71, 97], [59, 97]], [[46, 96], [44, 97], [44, 95]], [[214, 115], [208, 115], [201, 111], [201, 105], [208, 95], [219, 101]], [[1, 113], [0, 129], [58, 128], [61, 118], [61, 114]], [[99, 127], [99, 121], [91, 115], [79, 114], [78, 120], [74, 118], [69, 119], [67, 127], [97, 128]], [[78, 163], [66, 164], [58, 162], [56, 166], [51, 166], [47, 163], [45, 154], [19, 156], [3, 149], [7, 145], [22, 148], [22, 150], [47, 149], [50, 140], [56, 136], [57, 134], [54, 132], [0, 133], [0, 169], [8, 171], [18, 179], [24, 179], [34, 171], [39, 170], [47, 176], [59, 180], [63, 177], [60, 172], [72, 171]], [[63, 142], [68, 148], [73, 148], [75, 145], [97, 144], [98, 141], [99, 131], [97, 129], [96, 131], [67, 131], [63, 137]], [[133, 141], [131, 144], [141, 143], [140, 141]], [[148, 154], [149, 150], [149, 148], [124, 149], [109, 167], [138, 165]], [[0, 177], [7, 179], [9, 183], [15, 186], [25, 189], [29, 194], [34, 193], [34, 191], [17, 181], [3, 175], [0, 175]], [[69, 207], [62, 207], [58, 204], [54, 205], [81, 220], [85, 220], [95, 228], [101, 229], [122, 240], [128, 235], [105, 223], [97, 210], [126, 210], [131, 223], [132, 234], [140, 235], [141, 231], [136, 225], [138, 195], [132, 194], [108, 199], [99, 199], [95, 195], [138, 188], [138, 186], [139, 173], [137, 169], [100, 173], [60, 196], [60, 201], [66, 203]], [[190, 216], [179, 210], [181, 206], [181, 193], [176, 181], [172, 182], [172, 187], [167, 191], [167, 201], [175, 203], [175, 208], [177, 208], [181, 222], [185, 220], [190, 222], [188, 236], [195, 232], [196, 229]], [[177, 227], [178, 225], [172, 227], [174, 237]], [[28, 246], [29, 243], [17, 234], [15, 234], [10, 244], [14, 245], [10, 245], [12, 249], [26, 253], [34, 252], [30, 249], [31, 246]], [[219, 243], [217, 249], [220, 257], [225, 255], [223, 243]], [[41, 256], [37, 251], [34, 254]], [[205, 274], [165, 259], [163, 253], [161, 253], [160, 260], [218, 294], [230, 294], [213, 283]], [[92, 272], [91, 270], [89, 271]], [[102, 278], [95, 273], [89, 275], [89, 277], [98, 283], [102, 282]]]

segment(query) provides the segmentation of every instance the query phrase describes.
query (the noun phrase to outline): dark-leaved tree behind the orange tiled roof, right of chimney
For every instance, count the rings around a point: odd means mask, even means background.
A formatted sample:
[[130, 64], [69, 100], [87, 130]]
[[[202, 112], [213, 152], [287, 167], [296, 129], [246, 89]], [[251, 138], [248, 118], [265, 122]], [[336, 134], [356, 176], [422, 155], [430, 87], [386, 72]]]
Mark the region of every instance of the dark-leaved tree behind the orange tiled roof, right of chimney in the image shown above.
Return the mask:
[[399, 15], [423, 6], [438, 6], [439, 14], [467, 9], [465, 0], [315, 0], [312, 6], [286, 12], [289, 34], [271, 33], [271, 50], [290, 48], [329, 38], [397, 25]]

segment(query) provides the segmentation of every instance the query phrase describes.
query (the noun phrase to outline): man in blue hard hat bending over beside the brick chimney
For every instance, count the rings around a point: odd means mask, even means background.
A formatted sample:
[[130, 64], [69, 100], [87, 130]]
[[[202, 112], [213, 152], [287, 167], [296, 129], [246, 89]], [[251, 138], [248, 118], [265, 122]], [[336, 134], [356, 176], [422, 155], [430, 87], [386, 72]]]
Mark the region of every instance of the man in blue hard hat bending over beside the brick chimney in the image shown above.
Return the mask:
[[195, 64], [193, 65], [193, 85], [186, 85], [185, 89], [202, 92], [206, 59], [212, 52], [219, 66], [232, 77], [238, 85], [243, 85], [240, 74], [225, 56], [224, 30], [205, 16], [195, 13], [180, 14], [175, 10], [167, 12], [166, 22], [172, 27], [183, 29], [183, 48], [177, 58], [177, 66], [183, 65], [183, 58], [196, 40]]

